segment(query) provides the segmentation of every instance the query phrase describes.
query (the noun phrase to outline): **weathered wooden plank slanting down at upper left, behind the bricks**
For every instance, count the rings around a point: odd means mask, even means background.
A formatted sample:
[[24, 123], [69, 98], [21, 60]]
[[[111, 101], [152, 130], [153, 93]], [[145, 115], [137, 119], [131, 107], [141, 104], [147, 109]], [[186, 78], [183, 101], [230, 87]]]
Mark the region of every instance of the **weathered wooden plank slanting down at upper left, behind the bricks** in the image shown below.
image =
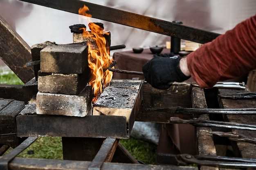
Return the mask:
[[1, 16], [0, 34], [0, 58], [23, 83], [27, 83], [34, 77], [33, 69], [26, 67], [32, 59], [29, 45]]

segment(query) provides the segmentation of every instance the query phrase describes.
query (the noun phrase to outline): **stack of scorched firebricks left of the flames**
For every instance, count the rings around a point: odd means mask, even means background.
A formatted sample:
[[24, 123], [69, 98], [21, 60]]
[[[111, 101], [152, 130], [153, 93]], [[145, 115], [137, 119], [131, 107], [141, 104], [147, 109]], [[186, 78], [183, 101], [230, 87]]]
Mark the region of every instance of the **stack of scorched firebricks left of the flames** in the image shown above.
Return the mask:
[[[83, 117], [91, 115], [94, 94], [88, 85], [88, 46], [92, 41], [71, 26], [73, 44], [55, 44], [49, 41], [31, 48], [33, 61], [40, 59], [36, 113]], [[81, 25], [79, 25], [81, 27]], [[78, 29], [77, 29], [78, 30]], [[108, 33], [110, 47], [110, 33]]]

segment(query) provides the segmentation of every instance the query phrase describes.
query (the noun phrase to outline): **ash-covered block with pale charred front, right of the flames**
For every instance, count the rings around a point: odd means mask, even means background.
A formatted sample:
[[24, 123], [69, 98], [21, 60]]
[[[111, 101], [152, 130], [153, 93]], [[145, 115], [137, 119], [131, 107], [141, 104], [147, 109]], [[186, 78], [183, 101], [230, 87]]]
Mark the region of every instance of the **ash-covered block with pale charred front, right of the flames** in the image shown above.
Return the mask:
[[124, 116], [129, 133], [141, 107], [141, 81], [112, 80], [93, 105], [94, 116]]

